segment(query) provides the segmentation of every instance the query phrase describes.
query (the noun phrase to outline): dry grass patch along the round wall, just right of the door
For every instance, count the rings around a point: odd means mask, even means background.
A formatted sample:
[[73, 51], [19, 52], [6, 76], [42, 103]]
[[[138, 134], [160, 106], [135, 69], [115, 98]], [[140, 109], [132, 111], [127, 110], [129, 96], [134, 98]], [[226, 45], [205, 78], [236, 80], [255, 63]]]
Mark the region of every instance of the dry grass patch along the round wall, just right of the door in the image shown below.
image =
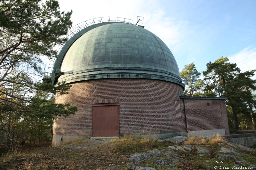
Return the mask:
[[156, 139], [141, 138], [133, 136], [125, 136], [113, 139], [116, 143], [116, 151], [121, 154], [132, 154], [137, 152], [145, 152], [153, 148], [162, 148], [170, 146], [171, 142], [158, 142]]

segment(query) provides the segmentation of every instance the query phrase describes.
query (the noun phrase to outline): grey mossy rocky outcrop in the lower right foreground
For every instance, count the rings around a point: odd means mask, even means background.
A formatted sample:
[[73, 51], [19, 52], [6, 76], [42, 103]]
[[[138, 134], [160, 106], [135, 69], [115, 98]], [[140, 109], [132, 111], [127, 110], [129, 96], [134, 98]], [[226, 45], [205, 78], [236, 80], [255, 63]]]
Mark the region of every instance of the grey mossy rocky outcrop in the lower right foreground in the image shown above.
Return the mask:
[[129, 169], [134, 170], [159, 168], [172, 170], [191, 169], [191, 167], [198, 167], [198, 169], [220, 169], [222, 167], [226, 167], [226, 169], [256, 169], [255, 159], [255, 150], [241, 144], [223, 142], [215, 145], [171, 145], [166, 148], [135, 153], [130, 155], [130, 162], [126, 165]]

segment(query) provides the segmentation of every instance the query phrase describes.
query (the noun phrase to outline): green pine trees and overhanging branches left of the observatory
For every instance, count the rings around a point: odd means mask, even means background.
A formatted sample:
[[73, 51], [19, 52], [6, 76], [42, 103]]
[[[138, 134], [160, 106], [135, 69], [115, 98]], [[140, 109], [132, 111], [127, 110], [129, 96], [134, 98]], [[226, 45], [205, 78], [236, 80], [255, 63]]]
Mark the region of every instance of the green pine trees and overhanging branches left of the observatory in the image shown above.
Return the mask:
[[59, 11], [56, 0], [0, 1], [0, 134], [7, 143], [29, 136], [39, 143], [50, 134], [54, 116], [77, 110], [53, 100], [53, 94], [67, 94], [71, 85], [38, 80], [42, 57], [56, 58], [53, 48], [67, 41], [71, 13]]

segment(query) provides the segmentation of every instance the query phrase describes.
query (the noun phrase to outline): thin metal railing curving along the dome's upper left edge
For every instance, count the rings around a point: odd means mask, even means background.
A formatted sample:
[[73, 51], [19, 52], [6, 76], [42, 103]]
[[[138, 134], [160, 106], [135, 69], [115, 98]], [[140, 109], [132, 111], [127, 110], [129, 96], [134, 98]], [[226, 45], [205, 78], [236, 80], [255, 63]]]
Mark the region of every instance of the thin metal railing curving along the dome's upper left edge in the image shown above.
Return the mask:
[[[99, 18], [92, 18], [86, 21], [83, 21], [79, 24], [76, 24], [75, 26], [71, 27], [68, 30], [67, 38], [68, 40], [72, 38], [76, 33], [81, 31], [82, 29], [92, 26], [94, 24], [102, 23], [102, 22], [123, 22], [127, 24], [132, 24], [132, 19], [127, 19], [127, 18], [120, 18], [120, 17], [99, 17]], [[60, 44], [57, 48], [56, 51], [59, 54], [61, 49], [63, 48], [64, 44]], [[54, 66], [55, 60], [51, 59], [49, 66], [44, 68], [44, 78], [51, 78], [52, 75], [52, 69]], [[44, 81], [44, 80], [43, 80]]]

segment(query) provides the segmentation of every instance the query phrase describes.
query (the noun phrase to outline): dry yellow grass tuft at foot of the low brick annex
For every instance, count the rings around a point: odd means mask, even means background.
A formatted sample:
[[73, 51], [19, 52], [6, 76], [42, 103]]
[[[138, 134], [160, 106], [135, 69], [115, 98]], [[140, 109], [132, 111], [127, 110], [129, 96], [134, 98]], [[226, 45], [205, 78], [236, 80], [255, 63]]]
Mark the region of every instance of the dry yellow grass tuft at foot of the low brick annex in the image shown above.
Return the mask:
[[220, 142], [223, 142], [224, 137], [221, 136], [219, 133], [210, 137], [210, 139], [205, 139], [204, 137], [196, 137], [196, 136], [189, 136], [188, 139], [184, 142], [185, 145], [197, 145], [197, 144], [209, 144], [214, 145]]

